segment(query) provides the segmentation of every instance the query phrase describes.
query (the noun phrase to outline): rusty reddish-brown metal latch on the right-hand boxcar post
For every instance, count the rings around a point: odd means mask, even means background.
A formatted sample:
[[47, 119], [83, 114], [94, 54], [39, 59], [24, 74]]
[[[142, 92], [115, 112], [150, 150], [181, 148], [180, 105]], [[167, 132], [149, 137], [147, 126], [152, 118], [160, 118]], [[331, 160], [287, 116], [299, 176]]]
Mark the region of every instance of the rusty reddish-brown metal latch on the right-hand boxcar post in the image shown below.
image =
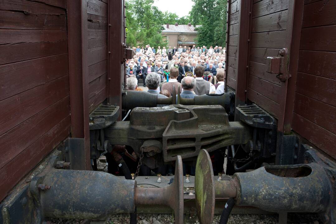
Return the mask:
[[289, 53], [287, 48], [281, 49], [277, 57], [267, 57], [266, 60], [266, 72], [278, 74], [277, 78], [280, 79], [281, 82], [286, 82], [286, 80], [290, 78], [288, 75]]

